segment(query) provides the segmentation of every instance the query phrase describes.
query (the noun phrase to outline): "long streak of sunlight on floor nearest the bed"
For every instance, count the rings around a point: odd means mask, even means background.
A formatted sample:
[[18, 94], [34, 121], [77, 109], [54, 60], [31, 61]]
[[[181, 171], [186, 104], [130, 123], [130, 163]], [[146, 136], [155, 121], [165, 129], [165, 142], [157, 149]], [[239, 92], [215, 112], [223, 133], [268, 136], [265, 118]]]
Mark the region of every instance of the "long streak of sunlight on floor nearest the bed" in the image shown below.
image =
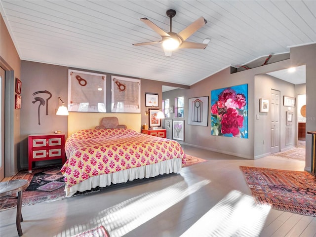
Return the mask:
[[181, 181], [157, 192], [132, 197], [100, 211], [88, 223], [65, 230], [58, 237], [67, 236], [66, 233], [75, 235], [78, 234], [79, 229], [84, 231], [100, 225], [107, 229], [111, 237], [124, 236], [208, 183], [209, 180], [202, 180], [188, 186], [185, 181]]

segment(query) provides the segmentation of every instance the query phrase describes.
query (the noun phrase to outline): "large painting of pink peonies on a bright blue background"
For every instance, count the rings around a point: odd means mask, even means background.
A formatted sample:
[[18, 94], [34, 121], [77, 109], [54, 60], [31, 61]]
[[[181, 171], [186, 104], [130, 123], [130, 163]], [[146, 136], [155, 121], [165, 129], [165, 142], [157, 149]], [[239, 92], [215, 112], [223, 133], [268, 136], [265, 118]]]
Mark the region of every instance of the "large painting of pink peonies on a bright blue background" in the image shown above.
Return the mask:
[[211, 91], [211, 134], [248, 138], [248, 84]]

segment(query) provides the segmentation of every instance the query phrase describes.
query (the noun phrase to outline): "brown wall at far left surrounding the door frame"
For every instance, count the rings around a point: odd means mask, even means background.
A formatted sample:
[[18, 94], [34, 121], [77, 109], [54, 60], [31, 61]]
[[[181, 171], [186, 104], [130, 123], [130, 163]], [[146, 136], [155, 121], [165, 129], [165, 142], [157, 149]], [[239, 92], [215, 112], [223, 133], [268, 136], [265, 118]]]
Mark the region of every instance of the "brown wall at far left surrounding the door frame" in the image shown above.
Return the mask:
[[[21, 62], [18, 52], [0, 14], [0, 66], [6, 71], [5, 79], [5, 176], [13, 175], [20, 167], [20, 110], [14, 109], [15, 78], [20, 77]], [[22, 91], [23, 91], [23, 80]]]

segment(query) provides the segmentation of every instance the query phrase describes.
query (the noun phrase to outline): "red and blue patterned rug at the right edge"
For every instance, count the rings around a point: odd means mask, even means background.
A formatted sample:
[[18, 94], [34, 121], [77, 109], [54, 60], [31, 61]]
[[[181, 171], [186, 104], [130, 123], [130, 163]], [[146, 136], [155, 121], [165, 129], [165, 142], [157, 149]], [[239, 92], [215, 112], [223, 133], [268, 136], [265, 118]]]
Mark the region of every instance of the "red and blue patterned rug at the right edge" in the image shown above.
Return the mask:
[[307, 171], [240, 166], [257, 203], [316, 217], [316, 178]]

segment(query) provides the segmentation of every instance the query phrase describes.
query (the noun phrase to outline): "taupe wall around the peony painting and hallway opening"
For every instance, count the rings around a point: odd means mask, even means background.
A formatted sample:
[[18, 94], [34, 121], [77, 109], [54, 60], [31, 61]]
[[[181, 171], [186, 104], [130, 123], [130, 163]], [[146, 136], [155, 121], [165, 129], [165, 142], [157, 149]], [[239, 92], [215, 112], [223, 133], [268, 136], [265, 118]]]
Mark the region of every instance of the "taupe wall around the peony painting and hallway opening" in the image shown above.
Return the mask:
[[[184, 143], [192, 146], [208, 149], [211, 151], [221, 152], [225, 154], [234, 155], [242, 158], [260, 158], [265, 155], [269, 155], [270, 144], [270, 130], [265, 119], [265, 115], [259, 114], [259, 99], [270, 95], [271, 88], [276, 88], [281, 91], [281, 97], [283, 95], [291, 95], [296, 97], [296, 89], [293, 84], [284, 83], [282, 81], [276, 82], [276, 80], [267, 79], [260, 76], [269, 72], [286, 69], [289, 67], [295, 67], [306, 64], [306, 93], [307, 93], [307, 108], [308, 108], [308, 121], [307, 129], [316, 130], [316, 44], [294, 47], [290, 50], [290, 59], [280, 62], [268, 64], [265, 66], [244, 70], [235, 74], [230, 73], [230, 69], [224, 69], [215, 75], [212, 75], [206, 79], [203, 79], [196, 84], [190, 86], [190, 90], [173, 90], [163, 93], [163, 99], [170, 99], [170, 104], [173, 105], [175, 97], [184, 96], [185, 102], [189, 98], [198, 96], [209, 96], [213, 89], [224, 88], [228, 86], [234, 86], [238, 84], [248, 84], [248, 139], [236, 139], [230, 137], [217, 137], [211, 135], [210, 127], [210, 112], [208, 115], [208, 126], [193, 126], [188, 125], [188, 106], [185, 106], [185, 141]], [[258, 81], [255, 80], [258, 75]], [[260, 81], [260, 78], [264, 78], [268, 84]], [[301, 90], [301, 87], [297, 87]], [[265, 91], [265, 92], [264, 92]], [[269, 91], [269, 92], [268, 92]], [[268, 95], [269, 94], [269, 95]], [[285, 109], [282, 106], [282, 121], [285, 123]], [[209, 100], [210, 111], [210, 100]], [[256, 119], [256, 115], [259, 114], [259, 120]], [[179, 118], [177, 118], [179, 119]], [[296, 126], [296, 124], [295, 124]], [[285, 126], [281, 127], [282, 136], [284, 136]], [[296, 131], [296, 127], [293, 128]], [[268, 140], [267, 140], [268, 139]], [[296, 132], [293, 133], [293, 142], [295, 145]], [[265, 140], [265, 144], [263, 144]], [[281, 149], [286, 149], [284, 137], [281, 137]], [[306, 170], [310, 170], [311, 165], [311, 138], [307, 137], [307, 149], [306, 149]]]

